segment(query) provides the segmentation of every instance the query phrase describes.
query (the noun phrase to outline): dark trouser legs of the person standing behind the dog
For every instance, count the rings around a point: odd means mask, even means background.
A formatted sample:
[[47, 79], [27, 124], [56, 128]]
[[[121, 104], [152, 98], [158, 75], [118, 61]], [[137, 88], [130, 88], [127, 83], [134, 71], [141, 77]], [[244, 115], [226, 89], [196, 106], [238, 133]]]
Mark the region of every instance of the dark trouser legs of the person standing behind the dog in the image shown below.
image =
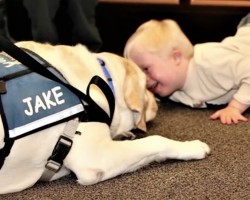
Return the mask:
[[[95, 8], [98, 0], [23, 0], [23, 4], [31, 20], [33, 40], [65, 44], [61, 41], [60, 35], [66, 33], [59, 31], [55, 23], [58, 10], [64, 5], [71, 20], [70, 26], [66, 28], [67, 34], [71, 34], [68, 45], [81, 43], [92, 51], [100, 49], [102, 40], [95, 26]], [[63, 23], [62, 19], [60, 24], [64, 25]]]

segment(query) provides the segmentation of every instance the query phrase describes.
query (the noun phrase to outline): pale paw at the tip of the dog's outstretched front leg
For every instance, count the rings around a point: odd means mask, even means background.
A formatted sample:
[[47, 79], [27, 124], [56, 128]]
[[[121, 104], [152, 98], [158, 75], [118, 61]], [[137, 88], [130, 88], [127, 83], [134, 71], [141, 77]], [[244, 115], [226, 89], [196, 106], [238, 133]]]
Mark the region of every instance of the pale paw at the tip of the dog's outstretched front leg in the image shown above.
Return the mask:
[[199, 160], [210, 154], [209, 146], [200, 140], [186, 141], [180, 145], [178, 159]]

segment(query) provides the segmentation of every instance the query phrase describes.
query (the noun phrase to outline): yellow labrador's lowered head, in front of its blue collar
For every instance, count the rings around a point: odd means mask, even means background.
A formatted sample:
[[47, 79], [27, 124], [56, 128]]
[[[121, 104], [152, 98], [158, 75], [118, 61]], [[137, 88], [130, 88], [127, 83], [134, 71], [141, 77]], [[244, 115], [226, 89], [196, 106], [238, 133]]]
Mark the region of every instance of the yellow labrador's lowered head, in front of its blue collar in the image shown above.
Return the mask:
[[153, 93], [146, 89], [146, 76], [131, 60], [112, 53], [99, 53], [111, 73], [115, 86], [116, 110], [111, 134], [133, 129], [147, 131], [146, 123], [156, 117], [158, 105]]

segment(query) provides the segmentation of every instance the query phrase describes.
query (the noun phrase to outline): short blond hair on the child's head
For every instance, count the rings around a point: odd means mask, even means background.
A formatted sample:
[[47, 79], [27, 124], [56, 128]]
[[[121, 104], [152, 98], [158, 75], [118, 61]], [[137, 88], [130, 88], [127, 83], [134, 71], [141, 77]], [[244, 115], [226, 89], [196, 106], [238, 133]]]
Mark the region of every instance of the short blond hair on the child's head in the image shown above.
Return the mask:
[[179, 50], [187, 59], [193, 56], [193, 45], [170, 19], [150, 20], [139, 26], [125, 45], [124, 57], [129, 58], [131, 48], [137, 46], [163, 57], [170, 56], [173, 50]]

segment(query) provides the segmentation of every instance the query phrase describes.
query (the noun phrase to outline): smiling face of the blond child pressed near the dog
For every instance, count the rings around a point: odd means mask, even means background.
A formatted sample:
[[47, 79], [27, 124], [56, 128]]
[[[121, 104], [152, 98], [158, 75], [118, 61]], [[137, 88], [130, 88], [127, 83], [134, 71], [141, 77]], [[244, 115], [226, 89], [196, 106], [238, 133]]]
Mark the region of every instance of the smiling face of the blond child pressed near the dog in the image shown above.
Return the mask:
[[132, 48], [129, 54], [147, 76], [147, 88], [162, 97], [177, 90], [174, 58], [162, 58], [143, 48]]

